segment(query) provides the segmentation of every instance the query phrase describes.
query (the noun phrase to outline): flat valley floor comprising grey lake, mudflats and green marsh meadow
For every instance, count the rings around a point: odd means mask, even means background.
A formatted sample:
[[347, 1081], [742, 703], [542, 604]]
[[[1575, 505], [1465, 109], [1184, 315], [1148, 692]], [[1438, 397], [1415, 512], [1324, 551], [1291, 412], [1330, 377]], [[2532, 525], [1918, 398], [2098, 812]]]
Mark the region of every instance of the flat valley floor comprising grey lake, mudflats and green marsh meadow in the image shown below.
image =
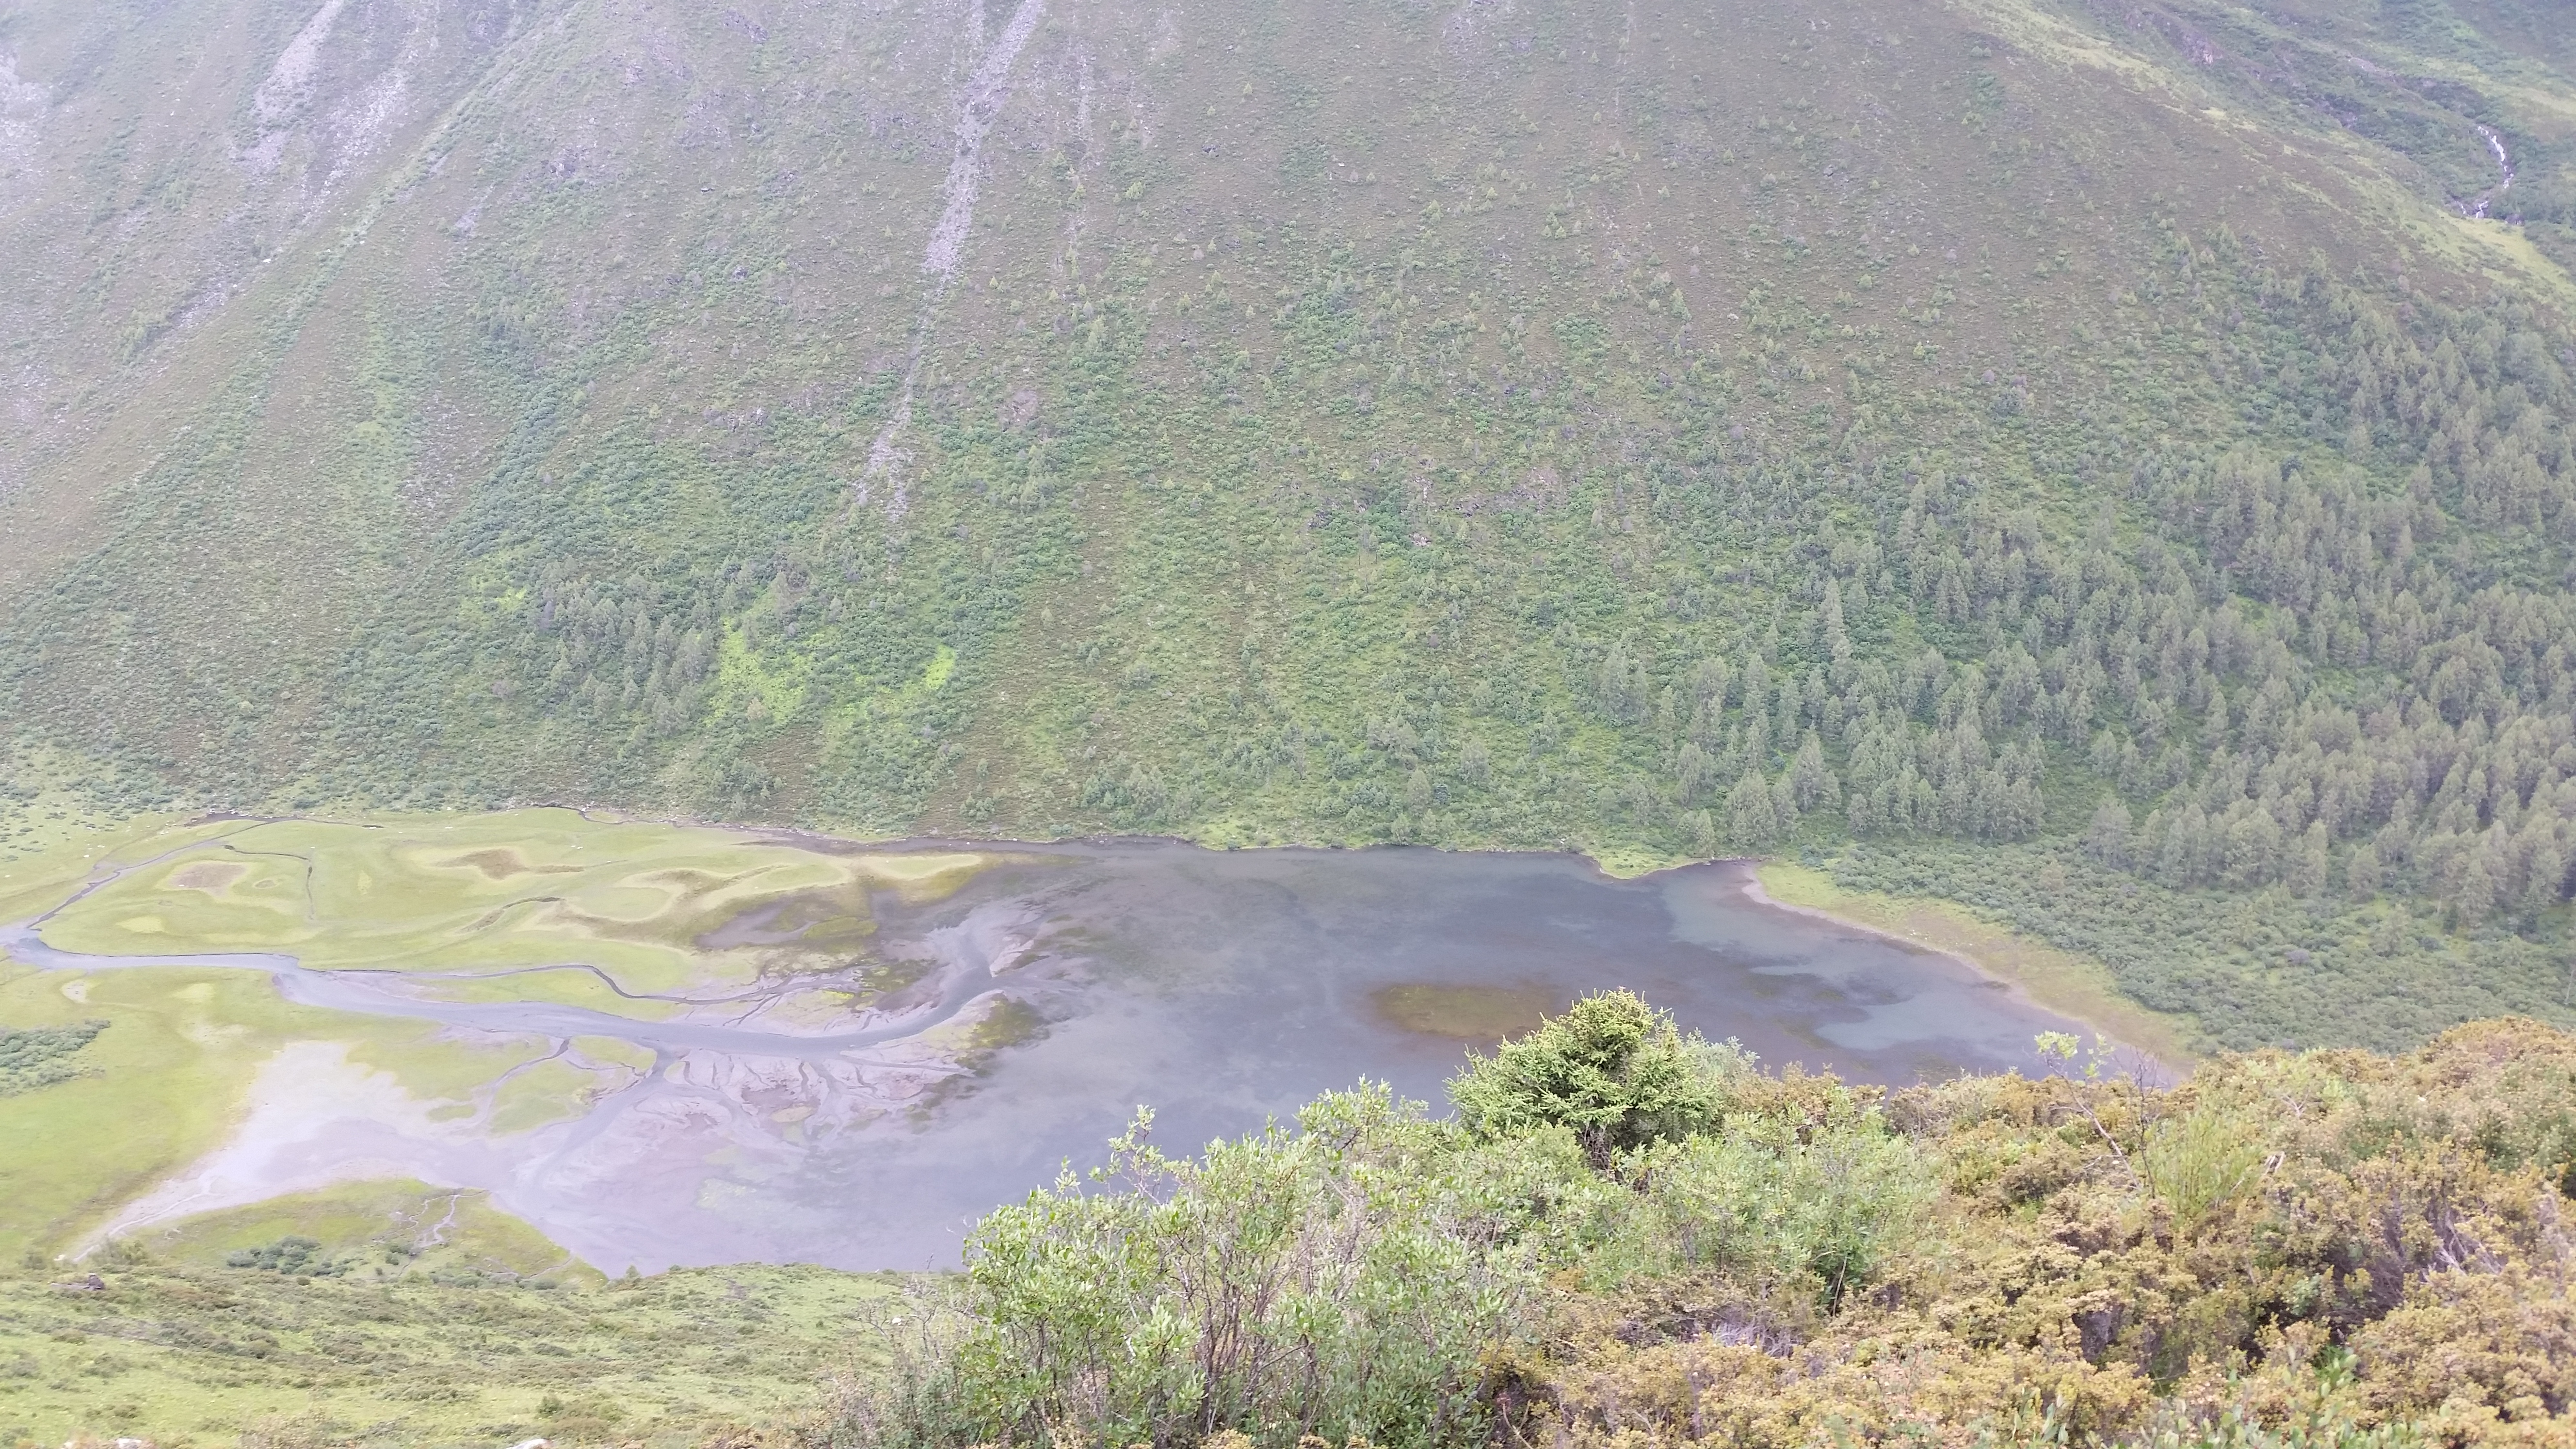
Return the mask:
[[1873, 1083], [2038, 1070], [2035, 1034], [2079, 1031], [1770, 905], [1744, 864], [858, 846], [569, 810], [173, 825], [0, 923], [0, 1024], [108, 1024], [106, 1065], [0, 1101], [0, 1147], [10, 1116], [95, 1122], [82, 1160], [116, 1163], [52, 1220], [21, 1199], [28, 1240], [425, 1183], [608, 1274], [948, 1266], [1139, 1109], [1175, 1152], [1363, 1078], [1437, 1111], [1468, 1049], [1607, 987]]

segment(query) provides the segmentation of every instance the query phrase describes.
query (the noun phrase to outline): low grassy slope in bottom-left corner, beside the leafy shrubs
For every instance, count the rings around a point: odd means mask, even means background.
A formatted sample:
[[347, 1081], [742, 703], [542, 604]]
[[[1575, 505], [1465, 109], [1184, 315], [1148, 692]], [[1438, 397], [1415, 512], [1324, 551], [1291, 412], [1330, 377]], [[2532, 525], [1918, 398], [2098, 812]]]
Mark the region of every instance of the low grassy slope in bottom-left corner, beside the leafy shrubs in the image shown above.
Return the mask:
[[381, 1248], [314, 1250], [366, 1266], [108, 1250], [0, 1269], [0, 1446], [701, 1449], [809, 1415], [814, 1385], [866, 1341], [853, 1315], [889, 1292], [770, 1266], [582, 1287], [459, 1256], [384, 1279]]

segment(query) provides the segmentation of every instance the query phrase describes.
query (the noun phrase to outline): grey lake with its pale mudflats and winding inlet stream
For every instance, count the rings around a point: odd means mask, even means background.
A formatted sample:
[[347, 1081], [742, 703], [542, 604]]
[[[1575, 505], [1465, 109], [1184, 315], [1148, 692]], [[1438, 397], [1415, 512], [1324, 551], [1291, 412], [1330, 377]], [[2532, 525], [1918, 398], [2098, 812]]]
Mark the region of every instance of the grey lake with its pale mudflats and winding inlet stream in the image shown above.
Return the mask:
[[[1054, 1181], [1059, 1163], [1100, 1160], [1139, 1106], [1172, 1152], [1360, 1078], [1437, 1109], [1471, 1044], [1592, 990], [1631, 987], [1772, 1067], [1875, 1083], [2035, 1070], [2032, 1036], [2076, 1029], [1950, 957], [1752, 900], [1731, 864], [1620, 882], [1571, 856], [997, 851], [1002, 864], [935, 905], [878, 900], [878, 954], [933, 967], [902, 1026], [863, 1034], [471, 1006], [412, 995], [394, 972], [191, 957], [265, 969], [289, 998], [337, 1011], [621, 1036], [657, 1067], [577, 1122], [489, 1137], [389, 1101], [384, 1078], [330, 1052], [291, 1049], [242, 1137], [124, 1225], [417, 1176], [489, 1189], [611, 1274], [752, 1258], [922, 1269], [956, 1263], [979, 1212]], [[0, 944], [54, 969], [178, 964], [72, 957], [23, 928]], [[989, 1031], [971, 1075], [894, 1114], [835, 1109], [881, 1088], [904, 1039], [969, 1008]]]

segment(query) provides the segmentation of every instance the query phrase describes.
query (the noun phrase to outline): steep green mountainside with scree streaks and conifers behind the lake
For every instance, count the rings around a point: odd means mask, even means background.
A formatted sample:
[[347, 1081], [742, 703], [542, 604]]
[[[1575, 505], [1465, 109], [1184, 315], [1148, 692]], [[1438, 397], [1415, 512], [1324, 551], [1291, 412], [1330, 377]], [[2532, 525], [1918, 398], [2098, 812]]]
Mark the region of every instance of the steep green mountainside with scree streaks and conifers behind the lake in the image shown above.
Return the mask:
[[13, 0], [13, 789], [1803, 851], [2213, 1047], [2576, 1021], [2563, 21]]

